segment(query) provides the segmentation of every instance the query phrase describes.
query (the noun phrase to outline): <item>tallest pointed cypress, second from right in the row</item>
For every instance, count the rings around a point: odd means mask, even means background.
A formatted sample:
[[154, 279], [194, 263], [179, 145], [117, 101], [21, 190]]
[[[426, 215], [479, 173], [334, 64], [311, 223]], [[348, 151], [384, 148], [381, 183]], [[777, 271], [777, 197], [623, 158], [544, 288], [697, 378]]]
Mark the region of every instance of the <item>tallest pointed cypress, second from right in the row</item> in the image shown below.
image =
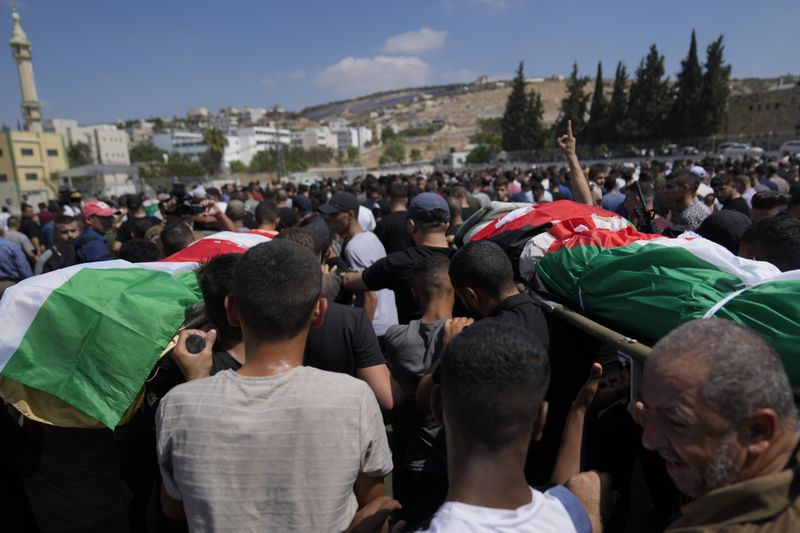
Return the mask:
[[697, 38], [692, 30], [689, 53], [681, 61], [681, 70], [675, 84], [672, 103], [672, 135], [689, 137], [698, 135], [698, 117], [703, 114], [703, 71], [697, 59]]

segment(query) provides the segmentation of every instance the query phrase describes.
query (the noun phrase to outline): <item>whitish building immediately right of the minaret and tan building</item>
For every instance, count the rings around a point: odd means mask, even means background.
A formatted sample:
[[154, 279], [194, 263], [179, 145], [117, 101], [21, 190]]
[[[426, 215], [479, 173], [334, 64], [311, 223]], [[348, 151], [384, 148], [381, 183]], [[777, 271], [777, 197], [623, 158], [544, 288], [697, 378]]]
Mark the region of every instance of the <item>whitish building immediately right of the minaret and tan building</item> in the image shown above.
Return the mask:
[[79, 126], [72, 119], [51, 119], [44, 124], [46, 131], [61, 135], [66, 145], [83, 143], [89, 146], [95, 165], [130, 165], [128, 133], [114, 124]]

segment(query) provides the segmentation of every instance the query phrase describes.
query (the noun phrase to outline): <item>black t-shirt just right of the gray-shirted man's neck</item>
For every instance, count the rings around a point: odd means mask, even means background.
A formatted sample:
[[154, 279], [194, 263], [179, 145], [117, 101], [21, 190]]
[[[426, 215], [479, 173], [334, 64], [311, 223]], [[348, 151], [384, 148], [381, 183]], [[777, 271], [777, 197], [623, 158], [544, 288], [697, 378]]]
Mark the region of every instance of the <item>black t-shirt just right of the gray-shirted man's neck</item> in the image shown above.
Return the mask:
[[330, 302], [322, 327], [308, 333], [306, 366], [355, 377], [359, 368], [385, 363], [363, 309]]

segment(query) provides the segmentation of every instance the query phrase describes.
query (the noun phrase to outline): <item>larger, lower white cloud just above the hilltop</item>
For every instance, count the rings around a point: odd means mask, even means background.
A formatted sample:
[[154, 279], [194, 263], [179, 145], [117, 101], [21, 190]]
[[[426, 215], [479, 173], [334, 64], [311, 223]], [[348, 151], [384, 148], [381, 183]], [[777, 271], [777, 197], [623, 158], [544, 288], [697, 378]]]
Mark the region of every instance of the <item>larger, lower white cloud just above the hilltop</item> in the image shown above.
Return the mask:
[[322, 70], [314, 82], [342, 95], [358, 96], [426, 85], [431, 67], [418, 57], [346, 57]]

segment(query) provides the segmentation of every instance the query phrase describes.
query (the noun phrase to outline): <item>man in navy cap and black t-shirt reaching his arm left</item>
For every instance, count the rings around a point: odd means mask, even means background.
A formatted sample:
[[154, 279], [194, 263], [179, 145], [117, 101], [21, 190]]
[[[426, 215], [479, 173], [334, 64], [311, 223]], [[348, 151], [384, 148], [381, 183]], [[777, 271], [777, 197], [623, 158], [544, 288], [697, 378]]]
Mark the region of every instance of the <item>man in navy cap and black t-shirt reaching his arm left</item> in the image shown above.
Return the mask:
[[343, 273], [345, 289], [350, 292], [391, 289], [399, 322], [408, 324], [419, 318], [422, 312], [411, 293], [414, 266], [433, 254], [450, 257], [446, 236], [449, 222], [450, 208], [444, 198], [435, 193], [415, 196], [406, 214], [406, 227], [416, 246], [389, 254], [363, 272]]

